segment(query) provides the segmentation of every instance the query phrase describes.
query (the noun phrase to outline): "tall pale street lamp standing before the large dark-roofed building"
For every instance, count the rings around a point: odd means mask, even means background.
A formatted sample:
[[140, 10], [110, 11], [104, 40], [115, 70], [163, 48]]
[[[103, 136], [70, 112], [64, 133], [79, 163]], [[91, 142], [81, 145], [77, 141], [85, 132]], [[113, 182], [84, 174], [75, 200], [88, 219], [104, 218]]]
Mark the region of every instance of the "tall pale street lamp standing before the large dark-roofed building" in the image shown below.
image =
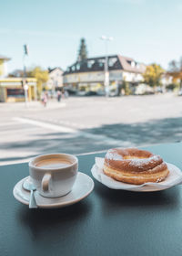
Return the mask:
[[107, 50], [108, 50], [108, 42], [113, 40], [113, 37], [106, 37], [102, 36], [100, 37], [101, 40], [105, 41], [105, 48], [106, 48], [106, 59], [105, 59], [105, 91], [106, 91], [106, 97], [109, 96], [109, 71], [108, 71], [108, 56], [107, 56]]

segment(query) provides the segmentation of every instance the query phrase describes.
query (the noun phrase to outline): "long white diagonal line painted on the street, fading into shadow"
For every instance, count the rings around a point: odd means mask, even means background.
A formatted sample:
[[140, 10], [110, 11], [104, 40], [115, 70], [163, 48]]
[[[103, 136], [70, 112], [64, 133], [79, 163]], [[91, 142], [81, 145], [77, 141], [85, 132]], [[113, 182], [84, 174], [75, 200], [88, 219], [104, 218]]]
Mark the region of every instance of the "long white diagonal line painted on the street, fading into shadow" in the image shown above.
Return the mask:
[[76, 130], [73, 128], [60, 126], [57, 124], [45, 123], [45, 122], [35, 121], [32, 119], [27, 119], [27, 118], [22, 118], [22, 117], [15, 117], [14, 120], [17, 122], [20, 122], [20, 123], [30, 123], [30, 124], [33, 124], [36, 126], [51, 129], [51, 130], [58, 131], [61, 133], [75, 133], [76, 137], [82, 136], [82, 137], [86, 137], [89, 139], [93, 139], [93, 140], [97, 141], [99, 144], [102, 142], [103, 144], [112, 144], [112, 145], [115, 144], [117, 146], [122, 146], [122, 147], [128, 147], [128, 146], [134, 145], [127, 141], [116, 140], [111, 137], [107, 137], [106, 135], [103, 135], [103, 134], [86, 133], [84, 131], [79, 131], [79, 130]]

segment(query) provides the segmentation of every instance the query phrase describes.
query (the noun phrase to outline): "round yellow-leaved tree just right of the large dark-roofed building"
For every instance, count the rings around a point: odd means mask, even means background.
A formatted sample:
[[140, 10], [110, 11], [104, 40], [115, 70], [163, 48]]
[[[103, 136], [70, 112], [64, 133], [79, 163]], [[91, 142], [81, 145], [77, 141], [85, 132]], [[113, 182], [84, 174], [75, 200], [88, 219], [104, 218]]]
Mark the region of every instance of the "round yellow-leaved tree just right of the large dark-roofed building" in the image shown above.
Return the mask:
[[143, 78], [149, 86], [155, 88], [156, 86], [161, 85], [160, 81], [163, 73], [164, 69], [162, 69], [160, 65], [154, 63], [147, 66]]

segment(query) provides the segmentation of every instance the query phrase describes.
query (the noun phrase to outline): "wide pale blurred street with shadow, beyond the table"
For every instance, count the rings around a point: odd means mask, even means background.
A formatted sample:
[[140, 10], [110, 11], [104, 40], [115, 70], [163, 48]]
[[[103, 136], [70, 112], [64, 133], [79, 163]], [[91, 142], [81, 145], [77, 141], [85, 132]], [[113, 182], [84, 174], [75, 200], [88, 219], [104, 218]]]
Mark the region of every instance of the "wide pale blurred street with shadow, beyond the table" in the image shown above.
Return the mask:
[[173, 94], [70, 97], [61, 102], [0, 103], [0, 165], [35, 155], [84, 154], [110, 147], [177, 142], [182, 98]]

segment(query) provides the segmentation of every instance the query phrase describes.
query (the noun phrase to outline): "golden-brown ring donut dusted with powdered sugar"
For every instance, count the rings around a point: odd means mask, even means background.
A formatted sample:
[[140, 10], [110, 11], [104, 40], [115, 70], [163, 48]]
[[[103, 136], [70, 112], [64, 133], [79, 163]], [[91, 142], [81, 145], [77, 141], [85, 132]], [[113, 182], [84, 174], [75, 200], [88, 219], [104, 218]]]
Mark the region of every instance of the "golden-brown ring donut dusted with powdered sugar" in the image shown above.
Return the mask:
[[109, 149], [103, 171], [106, 176], [136, 185], [163, 181], [169, 173], [167, 164], [159, 155], [137, 148]]

